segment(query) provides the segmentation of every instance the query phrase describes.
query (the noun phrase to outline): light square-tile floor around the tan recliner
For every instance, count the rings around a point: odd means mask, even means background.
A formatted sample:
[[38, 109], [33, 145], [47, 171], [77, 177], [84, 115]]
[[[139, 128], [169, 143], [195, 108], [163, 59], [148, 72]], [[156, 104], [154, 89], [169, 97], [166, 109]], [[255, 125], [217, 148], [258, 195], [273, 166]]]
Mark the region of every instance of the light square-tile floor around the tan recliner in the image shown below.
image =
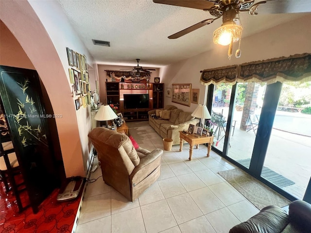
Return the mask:
[[[129, 122], [130, 127], [148, 129], [148, 122]], [[145, 148], [163, 149], [162, 138], [148, 130], [152, 140]], [[135, 137], [134, 137], [135, 138]], [[160, 146], [161, 145], [161, 146]], [[189, 146], [164, 151], [161, 175], [138, 200], [127, 201], [100, 177], [88, 183], [76, 233], [228, 233], [230, 228], [259, 210], [217, 172], [234, 166], [200, 145], [188, 160]]]

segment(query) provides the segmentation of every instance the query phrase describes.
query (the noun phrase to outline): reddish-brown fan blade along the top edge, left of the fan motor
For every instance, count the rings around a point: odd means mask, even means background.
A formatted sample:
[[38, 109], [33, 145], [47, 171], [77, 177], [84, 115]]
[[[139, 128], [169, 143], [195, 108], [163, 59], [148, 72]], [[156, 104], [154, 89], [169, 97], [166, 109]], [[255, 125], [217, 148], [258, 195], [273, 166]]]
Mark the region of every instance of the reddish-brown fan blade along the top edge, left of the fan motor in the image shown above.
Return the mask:
[[173, 6], [183, 6], [200, 10], [207, 10], [214, 6], [210, 0], [153, 0], [155, 3], [161, 3]]

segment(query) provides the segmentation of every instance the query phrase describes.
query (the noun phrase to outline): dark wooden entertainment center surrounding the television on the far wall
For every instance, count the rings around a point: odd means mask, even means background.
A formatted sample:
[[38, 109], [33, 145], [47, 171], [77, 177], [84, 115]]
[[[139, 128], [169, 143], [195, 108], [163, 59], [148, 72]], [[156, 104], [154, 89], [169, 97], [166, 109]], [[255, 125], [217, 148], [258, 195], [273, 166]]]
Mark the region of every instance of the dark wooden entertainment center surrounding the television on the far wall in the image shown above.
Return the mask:
[[[148, 120], [148, 111], [163, 108], [164, 83], [121, 83], [105, 82], [107, 104], [119, 108], [126, 121]], [[149, 106], [146, 108], [126, 108], [124, 94], [148, 94]]]

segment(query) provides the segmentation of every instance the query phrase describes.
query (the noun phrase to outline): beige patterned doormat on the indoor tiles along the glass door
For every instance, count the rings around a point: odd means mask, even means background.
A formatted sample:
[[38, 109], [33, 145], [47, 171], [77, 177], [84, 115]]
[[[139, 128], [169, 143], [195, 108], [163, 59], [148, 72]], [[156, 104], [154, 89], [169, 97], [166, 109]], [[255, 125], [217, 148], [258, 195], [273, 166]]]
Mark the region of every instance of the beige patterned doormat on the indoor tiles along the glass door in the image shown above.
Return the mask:
[[219, 171], [218, 174], [259, 210], [268, 205], [284, 207], [291, 202], [240, 168]]

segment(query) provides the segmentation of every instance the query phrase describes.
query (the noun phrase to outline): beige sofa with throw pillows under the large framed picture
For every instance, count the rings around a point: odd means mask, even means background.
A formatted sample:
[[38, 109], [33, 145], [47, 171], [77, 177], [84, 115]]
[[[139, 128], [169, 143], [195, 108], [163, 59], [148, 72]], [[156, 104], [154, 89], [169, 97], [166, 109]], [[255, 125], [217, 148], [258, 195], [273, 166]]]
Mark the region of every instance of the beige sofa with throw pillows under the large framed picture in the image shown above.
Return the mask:
[[[159, 118], [156, 119], [151, 116], [154, 114], [159, 115], [161, 110], [166, 111], [165, 114], [162, 112], [161, 117], [158, 116]], [[163, 109], [151, 110], [148, 112], [148, 115], [149, 125], [154, 128], [161, 137], [172, 138], [173, 145], [177, 145], [180, 142], [179, 131], [188, 130], [189, 124], [195, 125], [199, 122], [199, 119], [191, 116], [190, 112], [184, 112], [173, 105], [166, 105]]]

